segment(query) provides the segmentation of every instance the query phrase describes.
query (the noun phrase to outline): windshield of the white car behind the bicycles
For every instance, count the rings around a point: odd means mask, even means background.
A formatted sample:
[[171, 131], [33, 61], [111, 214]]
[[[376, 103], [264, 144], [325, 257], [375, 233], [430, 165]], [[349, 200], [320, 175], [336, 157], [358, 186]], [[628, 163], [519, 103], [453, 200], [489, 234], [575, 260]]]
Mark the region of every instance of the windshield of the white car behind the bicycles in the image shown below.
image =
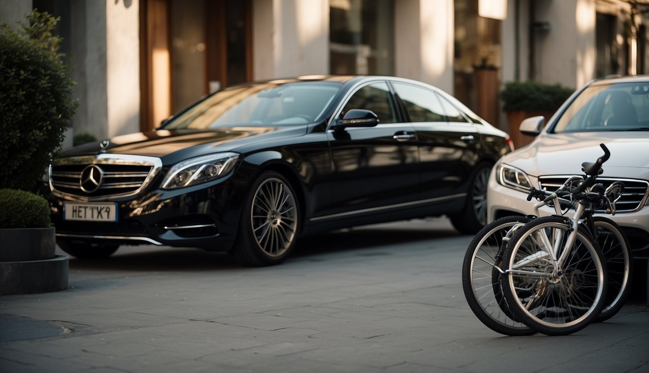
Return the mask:
[[649, 82], [591, 85], [566, 109], [553, 133], [649, 130]]

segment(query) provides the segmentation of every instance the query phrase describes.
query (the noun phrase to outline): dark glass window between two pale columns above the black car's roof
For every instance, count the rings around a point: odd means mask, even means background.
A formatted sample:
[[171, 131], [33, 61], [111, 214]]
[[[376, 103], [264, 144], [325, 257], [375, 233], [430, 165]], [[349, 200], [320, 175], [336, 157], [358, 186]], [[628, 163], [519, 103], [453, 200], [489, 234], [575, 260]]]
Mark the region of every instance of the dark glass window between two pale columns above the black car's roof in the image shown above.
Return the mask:
[[394, 0], [330, 0], [332, 74], [394, 74]]

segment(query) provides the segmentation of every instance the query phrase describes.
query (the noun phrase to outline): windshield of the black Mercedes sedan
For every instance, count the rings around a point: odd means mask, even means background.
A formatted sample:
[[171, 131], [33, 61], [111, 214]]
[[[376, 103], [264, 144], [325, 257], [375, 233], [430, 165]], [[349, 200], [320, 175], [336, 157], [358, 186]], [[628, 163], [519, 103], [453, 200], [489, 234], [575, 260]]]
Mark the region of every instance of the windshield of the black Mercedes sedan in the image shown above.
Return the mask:
[[169, 120], [165, 130], [282, 126], [319, 120], [340, 90], [336, 82], [235, 85]]

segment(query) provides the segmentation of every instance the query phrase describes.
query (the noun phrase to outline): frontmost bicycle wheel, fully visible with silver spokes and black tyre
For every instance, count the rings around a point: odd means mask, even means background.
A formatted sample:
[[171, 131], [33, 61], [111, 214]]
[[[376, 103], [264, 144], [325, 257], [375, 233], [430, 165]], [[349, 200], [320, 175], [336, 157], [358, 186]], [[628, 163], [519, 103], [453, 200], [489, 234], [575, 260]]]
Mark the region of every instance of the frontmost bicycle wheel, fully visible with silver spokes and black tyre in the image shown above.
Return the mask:
[[563, 216], [537, 218], [515, 232], [504, 252], [504, 267], [520, 271], [501, 276], [515, 319], [546, 335], [578, 332], [604, 307], [606, 262], [599, 245], [582, 229], [576, 232], [561, 273], [552, 274], [548, 252], [565, 246], [570, 229], [570, 220]]

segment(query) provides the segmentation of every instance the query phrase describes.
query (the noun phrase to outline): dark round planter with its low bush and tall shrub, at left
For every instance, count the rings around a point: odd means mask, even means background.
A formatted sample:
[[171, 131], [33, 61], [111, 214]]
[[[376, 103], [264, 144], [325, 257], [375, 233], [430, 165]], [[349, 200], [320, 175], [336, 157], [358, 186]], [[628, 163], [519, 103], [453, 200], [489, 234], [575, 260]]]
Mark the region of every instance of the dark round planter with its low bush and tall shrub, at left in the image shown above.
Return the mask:
[[0, 295], [67, 288], [67, 256], [36, 190], [61, 147], [77, 101], [53, 35], [58, 19], [34, 10], [18, 30], [0, 26]]

